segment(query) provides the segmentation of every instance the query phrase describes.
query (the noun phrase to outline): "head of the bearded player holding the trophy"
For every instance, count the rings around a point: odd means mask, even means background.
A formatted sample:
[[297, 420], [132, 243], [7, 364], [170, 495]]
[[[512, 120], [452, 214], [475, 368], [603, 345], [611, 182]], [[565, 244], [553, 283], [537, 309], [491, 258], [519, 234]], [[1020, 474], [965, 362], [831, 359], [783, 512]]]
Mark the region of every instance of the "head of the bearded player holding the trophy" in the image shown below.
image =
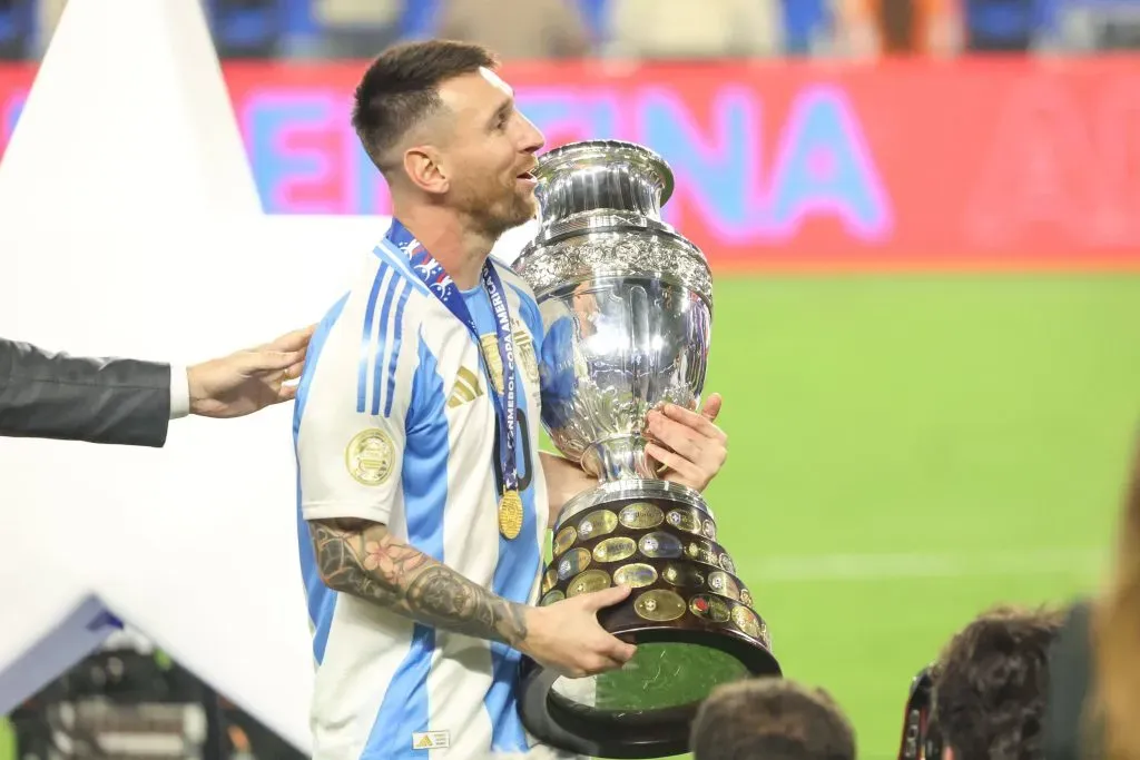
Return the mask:
[[400, 219], [454, 220], [494, 240], [534, 218], [543, 134], [497, 64], [480, 46], [430, 40], [389, 48], [365, 72], [352, 125]]

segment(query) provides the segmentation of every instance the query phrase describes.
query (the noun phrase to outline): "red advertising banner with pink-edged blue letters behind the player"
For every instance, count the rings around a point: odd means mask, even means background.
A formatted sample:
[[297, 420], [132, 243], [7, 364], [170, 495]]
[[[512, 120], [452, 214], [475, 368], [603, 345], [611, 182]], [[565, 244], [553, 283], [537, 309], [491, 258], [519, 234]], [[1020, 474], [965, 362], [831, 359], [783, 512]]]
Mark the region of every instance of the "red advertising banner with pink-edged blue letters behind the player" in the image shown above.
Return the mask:
[[[270, 214], [385, 214], [365, 62], [225, 65]], [[547, 147], [642, 142], [719, 269], [1140, 269], [1140, 70], [1121, 58], [514, 65]], [[34, 76], [0, 68], [0, 148]]]

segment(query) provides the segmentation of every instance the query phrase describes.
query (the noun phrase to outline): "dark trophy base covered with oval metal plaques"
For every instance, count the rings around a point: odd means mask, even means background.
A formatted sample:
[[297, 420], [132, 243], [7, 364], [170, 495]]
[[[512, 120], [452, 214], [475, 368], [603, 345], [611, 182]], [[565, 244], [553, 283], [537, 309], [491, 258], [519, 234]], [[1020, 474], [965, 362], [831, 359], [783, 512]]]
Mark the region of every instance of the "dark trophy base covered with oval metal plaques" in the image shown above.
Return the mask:
[[751, 593], [715, 539], [701, 496], [665, 481], [605, 483], [567, 504], [539, 605], [627, 585], [629, 597], [597, 620], [637, 654], [620, 670], [576, 679], [523, 657], [527, 730], [596, 758], [681, 754], [714, 688], [781, 675]]

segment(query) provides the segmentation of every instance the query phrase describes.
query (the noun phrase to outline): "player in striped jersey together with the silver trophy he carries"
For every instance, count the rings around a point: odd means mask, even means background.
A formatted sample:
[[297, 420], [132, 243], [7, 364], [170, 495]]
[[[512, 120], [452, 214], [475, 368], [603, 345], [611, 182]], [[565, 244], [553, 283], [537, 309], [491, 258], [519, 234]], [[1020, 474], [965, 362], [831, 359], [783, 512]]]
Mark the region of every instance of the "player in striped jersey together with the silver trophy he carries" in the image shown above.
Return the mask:
[[[356, 92], [393, 221], [298, 392], [318, 760], [668, 754], [694, 694], [777, 672], [700, 497], [725, 459], [719, 398], [694, 411], [710, 277], [659, 221], [668, 167], [539, 164], [495, 68], [405, 44]], [[490, 259], [538, 205], [518, 271]]]

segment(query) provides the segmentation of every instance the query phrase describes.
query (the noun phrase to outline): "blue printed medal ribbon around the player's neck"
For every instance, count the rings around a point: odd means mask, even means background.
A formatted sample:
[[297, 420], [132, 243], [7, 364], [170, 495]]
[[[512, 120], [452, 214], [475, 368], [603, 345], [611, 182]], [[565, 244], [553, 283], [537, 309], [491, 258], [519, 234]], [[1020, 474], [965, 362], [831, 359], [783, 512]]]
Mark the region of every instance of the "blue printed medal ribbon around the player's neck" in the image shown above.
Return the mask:
[[[459, 288], [451, 281], [451, 277], [443, 270], [438, 261], [427, 252], [420, 240], [399, 222], [392, 220], [392, 227], [388, 231], [388, 239], [407, 256], [412, 264], [412, 270], [418, 275], [427, 289], [439, 299], [448, 311], [456, 319], [467, 326], [475, 346], [482, 344], [479, 341], [479, 328], [471, 317], [466, 302]], [[515, 431], [518, 425], [518, 387], [515, 385], [514, 368], [514, 335], [511, 330], [511, 314], [506, 308], [506, 293], [503, 289], [503, 280], [499, 278], [495, 267], [490, 261], [483, 262], [482, 285], [491, 302], [491, 310], [495, 313], [495, 333], [498, 338], [499, 361], [503, 365], [503, 397], [495, 392], [495, 383], [490, 378], [490, 366], [483, 357], [483, 366], [487, 374], [487, 385], [491, 399], [495, 401], [495, 412], [498, 416], [499, 427], [506, 439], [500, 451], [500, 466], [503, 473], [503, 489], [506, 492], [519, 490], [519, 464], [515, 459]]]

